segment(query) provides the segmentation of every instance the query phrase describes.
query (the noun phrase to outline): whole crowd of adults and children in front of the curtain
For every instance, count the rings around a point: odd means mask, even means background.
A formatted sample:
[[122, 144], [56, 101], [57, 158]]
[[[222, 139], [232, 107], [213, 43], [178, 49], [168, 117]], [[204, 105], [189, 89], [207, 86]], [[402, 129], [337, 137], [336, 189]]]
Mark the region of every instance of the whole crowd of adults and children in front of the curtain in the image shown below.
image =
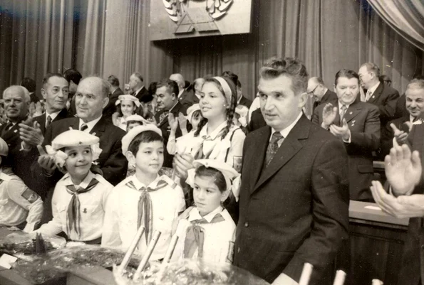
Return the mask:
[[[331, 282], [349, 200], [415, 218], [418, 236], [423, 78], [399, 96], [374, 63], [339, 70], [333, 88], [295, 58], [271, 58], [259, 75], [253, 102], [230, 71], [148, 88], [134, 72], [121, 90], [114, 75], [67, 70], [46, 74], [42, 97], [30, 78], [7, 87], [0, 224], [124, 250], [143, 227], [140, 254], [160, 232], [152, 260], [178, 235], [172, 259], [229, 262], [273, 284], [297, 284], [305, 262], [313, 284]], [[390, 190], [373, 181], [386, 155]], [[418, 267], [405, 284], [419, 284], [419, 240], [407, 247], [418, 259], [404, 266]]]

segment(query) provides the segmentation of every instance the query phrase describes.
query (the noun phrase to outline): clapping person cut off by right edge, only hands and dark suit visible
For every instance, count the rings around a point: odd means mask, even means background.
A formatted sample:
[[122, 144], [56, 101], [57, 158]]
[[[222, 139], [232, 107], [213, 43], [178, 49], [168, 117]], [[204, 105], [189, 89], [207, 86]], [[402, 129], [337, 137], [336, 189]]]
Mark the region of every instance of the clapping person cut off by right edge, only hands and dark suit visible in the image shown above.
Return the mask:
[[[412, 84], [412, 85], [411, 85]], [[411, 82], [408, 90], [424, 92], [424, 80]], [[389, 193], [378, 181], [371, 187], [380, 208], [395, 217], [409, 218], [408, 236], [398, 285], [424, 285], [424, 124], [415, 124], [408, 135], [408, 144], [393, 146], [386, 158], [385, 168]]]

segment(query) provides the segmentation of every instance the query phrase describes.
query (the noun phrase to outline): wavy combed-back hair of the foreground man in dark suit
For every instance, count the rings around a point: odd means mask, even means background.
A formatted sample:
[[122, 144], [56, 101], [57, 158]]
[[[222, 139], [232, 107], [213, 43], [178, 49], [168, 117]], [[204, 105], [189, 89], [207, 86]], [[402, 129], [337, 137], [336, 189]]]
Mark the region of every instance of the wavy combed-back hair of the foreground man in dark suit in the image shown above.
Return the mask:
[[306, 92], [308, 86], [308, 72], [304, 63], [297, 58], [269, 58], [259, 74], [264, 79], [274, 79], [281, 75], [290, 77], [295, 95]]

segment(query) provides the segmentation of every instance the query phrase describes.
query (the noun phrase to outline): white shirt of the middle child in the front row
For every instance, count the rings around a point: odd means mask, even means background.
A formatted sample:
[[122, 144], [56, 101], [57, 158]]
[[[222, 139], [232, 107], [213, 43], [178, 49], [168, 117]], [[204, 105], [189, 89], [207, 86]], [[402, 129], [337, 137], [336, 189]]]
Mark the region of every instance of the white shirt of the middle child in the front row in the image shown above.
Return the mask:
[[[157, 183], [161, 180], [167, 182], [168, 185], [149, 192], [152, 200], [152, 229], [150, 231], [152, 234], [156, 230], [162, 232], [150, 259], [158, 260], [165, 257], [171, 240], [172, 222], [179, 213], [185, 210], [182, 188], [167, 176], [157, 176], [155, 181], [149, 185], [138, 181], [135, 176], [129, 176], [113, 188], [106, 206], [103, 246], [120, 247], [126, 251], [138, 231], [138, 201], [142, 192], [130, 188], [126, 184], [132, 181], [137, 189], [143, 186], [156, 188]], [[140, 254], [145, 253], [146, 247], [145, 234], [143, 234], [138, 244]]]

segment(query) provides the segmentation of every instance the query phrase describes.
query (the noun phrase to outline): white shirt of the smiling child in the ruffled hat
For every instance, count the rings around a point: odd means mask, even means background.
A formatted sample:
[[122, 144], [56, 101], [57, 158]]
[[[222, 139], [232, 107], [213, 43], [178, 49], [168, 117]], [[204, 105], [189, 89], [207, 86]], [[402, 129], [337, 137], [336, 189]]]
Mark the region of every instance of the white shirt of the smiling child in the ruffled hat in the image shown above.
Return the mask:
[[[80, 236], [76, 232], [68, 232], [68, 205], [71, 201], [72, 195], [66, 190], [67, 185], [73, 185], [71, 176], [66, 173], [61, 178], [56, 187], [54, 188], [53, 198], [51, 200], [51, 209], [53, 212], [53, 220], [47, 224], [42, 225], [36, 232], [41, 232], [46, 235], [57, 235], [59, 232], [65, 232], [71, 240], [90, 241], [98, 239], [102, 236], [103, 217], [105, 216], [106, 200], [113, 185], [100, 176], [91, 171], [84, 180], [78, 185], [79, 187], [86, 188], [95, 178], [98, 184], [93, 189], [86, 193], [78, 194], [80, 206]], [[76, 185], [76, 188], [78, 188]]]

